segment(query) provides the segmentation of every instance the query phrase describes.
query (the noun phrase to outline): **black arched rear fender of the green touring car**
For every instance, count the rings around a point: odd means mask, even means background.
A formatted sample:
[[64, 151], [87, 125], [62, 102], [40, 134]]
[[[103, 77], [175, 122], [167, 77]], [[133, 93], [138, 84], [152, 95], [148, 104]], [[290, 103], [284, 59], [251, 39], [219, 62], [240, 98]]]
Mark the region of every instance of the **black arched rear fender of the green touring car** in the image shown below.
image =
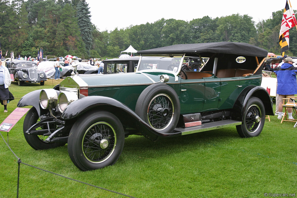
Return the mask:
[[250, 85], [244, 88], [237, 97], [233, 105], [232, 119], [242, 121], [242, 112], [244, 112], [247, 102], [251, 97], [257, 97], [263, 102], [266, 115], [274, 115], [272, 101], [266, 89], [260, 86]]

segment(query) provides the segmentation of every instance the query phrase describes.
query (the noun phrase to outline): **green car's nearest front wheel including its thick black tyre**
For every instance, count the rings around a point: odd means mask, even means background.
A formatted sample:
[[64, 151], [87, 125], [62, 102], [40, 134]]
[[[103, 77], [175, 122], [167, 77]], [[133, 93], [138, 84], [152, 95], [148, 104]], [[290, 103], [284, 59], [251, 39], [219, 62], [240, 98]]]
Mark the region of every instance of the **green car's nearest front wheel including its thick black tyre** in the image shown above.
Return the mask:
[[83, 171], [116, 163], [123, 147], [123, 126], [115, 115], [106, 111], [93, 111], [78, 119], [68, 138], [70, 159]]

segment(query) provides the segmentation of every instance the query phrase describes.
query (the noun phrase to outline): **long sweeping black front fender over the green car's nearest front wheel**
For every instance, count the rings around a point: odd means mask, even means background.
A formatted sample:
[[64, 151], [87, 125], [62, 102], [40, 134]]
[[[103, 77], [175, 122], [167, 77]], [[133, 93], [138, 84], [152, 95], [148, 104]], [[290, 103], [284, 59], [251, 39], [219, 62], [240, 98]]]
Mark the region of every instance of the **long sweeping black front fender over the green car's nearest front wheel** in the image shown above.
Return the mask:
[[79, 119], [78, 116], [86, 114], [91, 110], [105, 110], [113, 113], [119, 118], [123, 126], [138, 129], [138, 131], [150, 140], [157, 139], [157, 136], [169, 137], [180, 134], [163, 134], [151, 128], [132, 109], [116, 99], [105, 96], [88, 96], [78, 99], [69, 104], [61, 115], [64, 120]]

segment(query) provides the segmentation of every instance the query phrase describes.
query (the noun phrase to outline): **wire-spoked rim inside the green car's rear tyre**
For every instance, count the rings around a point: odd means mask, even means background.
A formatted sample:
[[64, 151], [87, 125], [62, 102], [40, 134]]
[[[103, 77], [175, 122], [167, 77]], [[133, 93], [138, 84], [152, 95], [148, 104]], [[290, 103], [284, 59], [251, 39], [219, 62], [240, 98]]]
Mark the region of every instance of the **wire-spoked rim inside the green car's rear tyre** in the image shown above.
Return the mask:
[[261, 123], [261, 110], [256, 104], [249, 107], [246, 114], [246, 126], [249, 132], [255, 132]]

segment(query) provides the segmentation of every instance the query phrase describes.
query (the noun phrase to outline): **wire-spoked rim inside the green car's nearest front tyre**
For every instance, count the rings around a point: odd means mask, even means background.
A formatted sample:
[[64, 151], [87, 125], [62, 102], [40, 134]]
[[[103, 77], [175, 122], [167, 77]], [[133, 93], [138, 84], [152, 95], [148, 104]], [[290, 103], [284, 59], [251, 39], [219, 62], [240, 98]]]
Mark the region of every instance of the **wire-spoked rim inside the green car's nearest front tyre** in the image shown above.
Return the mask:
[[83, 142], [83, 154], [91, 162], [108, 159], [116, 146], [116, 132], [106, 122], [97, 122], [86, 131]]

